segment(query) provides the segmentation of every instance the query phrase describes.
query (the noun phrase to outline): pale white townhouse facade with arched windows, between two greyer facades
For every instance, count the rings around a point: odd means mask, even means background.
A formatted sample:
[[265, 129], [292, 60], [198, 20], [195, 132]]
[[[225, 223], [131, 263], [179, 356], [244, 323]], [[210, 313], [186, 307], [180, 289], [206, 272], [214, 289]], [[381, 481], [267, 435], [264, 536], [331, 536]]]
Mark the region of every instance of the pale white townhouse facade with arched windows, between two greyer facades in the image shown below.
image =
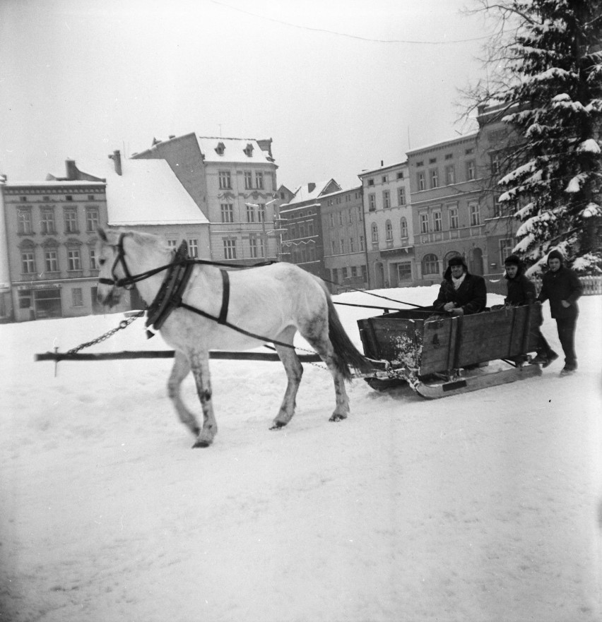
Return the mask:
[[370, 286], [403, 287], [417, 277], [408, 162], [362, 171]]

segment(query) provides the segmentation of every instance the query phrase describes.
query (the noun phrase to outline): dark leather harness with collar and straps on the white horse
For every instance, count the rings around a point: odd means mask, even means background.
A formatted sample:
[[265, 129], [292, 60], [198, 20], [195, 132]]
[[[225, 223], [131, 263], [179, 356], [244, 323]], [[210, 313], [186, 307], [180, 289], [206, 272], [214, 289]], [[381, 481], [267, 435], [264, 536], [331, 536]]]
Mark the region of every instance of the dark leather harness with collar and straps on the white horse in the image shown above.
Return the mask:
[[[191, 311], [192, 313], [196, 313], [199, 316], [203, 316], [203, 318], [215, 321], [223, 326], [228, 326], [228, 328], [232, 328], [232, 330], [236, 330], [238, 333], [242, 333], [242, 335], [246, 335], [247, 337], [252, 337], [259, 341], [269, 341], [272, 342], [274, 345], [281, 345], [283, 347], [295, 349], [295, 346], [290, 343], [278, 341], [276, 339], [273, 339], [272, 337], [256, 335], [255, 333], [251, 333], [248, 330], [244, 330], [244, 328], [240, 328], [239, 326], [228, 322], [228, 305], [230, 304], [230, 277], [228, 276], [228, 271], [224, 270], [224, 267], [240, 268], [240, 265], [217, 263], [215, 261], [204, 261], [202, 259], [190, 258], [188, 256], [188, 245], [186, 241], [183, 240], [182, 244], [179, 245], [177, 251], [175, 251], [174, 261], [172, 261], [172, 263], [162, 265], [159, 268], [154, 268], [153, 270], [147, 270], [146, 272], [138, 275], [131, 275], [125, 261], [123, 240], [126, 235], [126, 233], [122, 233], [119, 235], [119, 241], [117, 242], [117, 257], [115, 258], [115, 261], [113, 262], [111, 268], [111, 275], [113, 277], [112, 280], [100, 278], [98, 282], [105, 285], [115, 285], [117, 287], [124, 287], [125, 289], [132, 289], [138, 281], [144, 280], [155, 274], [163, 272], [163, 270], [167, 270], [167, 274], [163, 279], [163, 283], [161, 284], [161, 287], [159, 288], [155, 299], [153, 300], [153, 302], [151, 302], [151, 304], [148, 306], [148, 309], [146, 310], [146, 336], [149, 339], [155, 335], [156, 331], [160, 330], [161, 326], [163, 326], [163, 324], [170, 316], [172, 311], [174, 311], [174, 309], [187, 309], [187, 311]], [[188, 282], [192, 274], [192, 270], [196, 263], [223, 266], [220, 267], [223, 287], [222, 304], [219, 316], [212, 316], [211, 313], [206, 313], [206, 311], [196, 309], [196, 307], [186, 304], [182, 300], [182, 296], [184, 295], [184, 291], [187, 288]], [[261, 265], [269, 265], [271, 263], [273, 262], [267, 261], [256, 264], [252, 267], [255, 268]], [[126, 275], [122, 279], [117, 277], [117, 275], [115, 274], [115, 268], [118, 264], [122, 265], [122, 268]]]

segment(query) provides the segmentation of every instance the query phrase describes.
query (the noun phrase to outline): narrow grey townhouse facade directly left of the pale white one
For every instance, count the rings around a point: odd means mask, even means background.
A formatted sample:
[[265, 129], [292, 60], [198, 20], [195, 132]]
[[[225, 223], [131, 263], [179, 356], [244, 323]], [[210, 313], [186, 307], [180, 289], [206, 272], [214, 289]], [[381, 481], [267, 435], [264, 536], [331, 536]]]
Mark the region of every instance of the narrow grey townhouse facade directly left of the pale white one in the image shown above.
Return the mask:
[[369, 286], [362, 186], [325, 194], [321, 205], [324, 273], [333, 292]]

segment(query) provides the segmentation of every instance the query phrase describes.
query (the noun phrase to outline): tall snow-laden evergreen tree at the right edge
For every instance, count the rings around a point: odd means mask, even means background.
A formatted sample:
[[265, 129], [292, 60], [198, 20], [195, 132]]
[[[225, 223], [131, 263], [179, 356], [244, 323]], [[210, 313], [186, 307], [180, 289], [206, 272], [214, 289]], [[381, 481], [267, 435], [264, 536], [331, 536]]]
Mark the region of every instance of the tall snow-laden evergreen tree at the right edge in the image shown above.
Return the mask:
[[[602, 0], [481, 1], [495, 12], [488, 85], [476, 102], [502, 102], [521, 145], [499, 184], [522, 221], [519, 253], [530, 273], [552, 248], [582, 274], [602, 273]], [[500, 19], [501, 18], [501, 19]], [[490, 65], [491, 67], [491, 65]], [[520, 165], [517, 165], [517, 156]]]

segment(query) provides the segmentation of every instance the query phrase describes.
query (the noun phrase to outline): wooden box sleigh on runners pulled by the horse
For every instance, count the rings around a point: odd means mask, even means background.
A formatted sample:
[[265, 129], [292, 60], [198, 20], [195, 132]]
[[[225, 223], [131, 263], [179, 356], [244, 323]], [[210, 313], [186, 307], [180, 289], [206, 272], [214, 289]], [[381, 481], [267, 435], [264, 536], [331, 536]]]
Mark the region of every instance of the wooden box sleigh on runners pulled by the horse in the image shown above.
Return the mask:
[[364, 354], [386, 361], [365, 381], [376, 390], [407, 383], [434, 399], [539, 376], [527, 354], [537, 349], [532, 328], [540, 317], [536, 303], [469, 316], [403, 310], [359, 320]]

